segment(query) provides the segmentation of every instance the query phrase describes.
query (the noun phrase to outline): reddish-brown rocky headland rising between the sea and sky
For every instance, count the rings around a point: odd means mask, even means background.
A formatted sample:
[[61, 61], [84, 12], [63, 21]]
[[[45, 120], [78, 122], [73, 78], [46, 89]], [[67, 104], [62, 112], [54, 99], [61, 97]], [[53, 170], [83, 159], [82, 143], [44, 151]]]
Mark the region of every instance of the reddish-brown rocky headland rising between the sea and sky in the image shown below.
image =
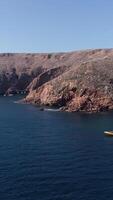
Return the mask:
[[0, 54], [0, 95], [60, 110], [113, 109], [113, 49], [69, 53]]

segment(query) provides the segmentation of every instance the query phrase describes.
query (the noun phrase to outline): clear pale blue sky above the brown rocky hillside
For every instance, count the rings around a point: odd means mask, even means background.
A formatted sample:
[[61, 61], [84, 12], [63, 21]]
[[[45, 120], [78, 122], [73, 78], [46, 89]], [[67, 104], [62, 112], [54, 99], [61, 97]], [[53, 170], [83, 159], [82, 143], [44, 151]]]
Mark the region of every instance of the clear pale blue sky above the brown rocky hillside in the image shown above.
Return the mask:
[[0, 0], [0, 52], [113, 47], [113, 0]]

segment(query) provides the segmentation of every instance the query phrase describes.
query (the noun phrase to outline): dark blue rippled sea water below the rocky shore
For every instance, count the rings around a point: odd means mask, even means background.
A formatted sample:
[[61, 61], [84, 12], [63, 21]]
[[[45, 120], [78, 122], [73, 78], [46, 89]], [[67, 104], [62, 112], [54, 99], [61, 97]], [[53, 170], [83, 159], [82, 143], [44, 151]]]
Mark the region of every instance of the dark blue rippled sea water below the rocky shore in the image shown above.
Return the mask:
[[40, 111], [0, 97], [0, 200], [113, 200], [113, 113]]

